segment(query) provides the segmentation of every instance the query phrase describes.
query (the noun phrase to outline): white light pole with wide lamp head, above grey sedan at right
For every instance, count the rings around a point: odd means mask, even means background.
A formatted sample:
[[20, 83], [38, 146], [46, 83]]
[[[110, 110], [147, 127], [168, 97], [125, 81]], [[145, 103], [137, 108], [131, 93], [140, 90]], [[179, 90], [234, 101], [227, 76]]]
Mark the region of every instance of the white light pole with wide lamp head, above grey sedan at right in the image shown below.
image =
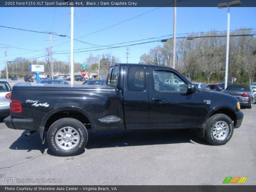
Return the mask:
[[227, 29], [227, 51], [226, 51], [226, 69], [225, 69], [225, 89], [228, 87], [228, 51], [229, 51], [229, 24], [230, 24], [230, 7], [235, 7], [241, 5], [239, 0], [231, 1], [228, 3], [220, 3], [218, 4], [218, 8], [226, 8], [228, 7], [228, 29]]

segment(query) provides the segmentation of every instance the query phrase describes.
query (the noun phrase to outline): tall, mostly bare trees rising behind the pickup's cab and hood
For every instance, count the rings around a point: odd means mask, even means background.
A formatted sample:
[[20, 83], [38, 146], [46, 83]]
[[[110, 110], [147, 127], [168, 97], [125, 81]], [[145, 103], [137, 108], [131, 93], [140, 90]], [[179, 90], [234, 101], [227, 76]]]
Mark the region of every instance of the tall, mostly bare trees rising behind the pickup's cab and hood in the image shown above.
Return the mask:
[[[244, 36], [249, 34], [255, 34], [255, 30], [241, 28], [230, 33], [228, 81], [235, 77], [239, 83], [252, 83], [255, 78], [256, 39]], [[177, 39], [175, 69], [193, 82], [210, 84], [225, 81], [226, 35], [226, 32], [213, 31]], [[171, 67], [171, 62], [172, 40], [140, 56], [140, 63]]]

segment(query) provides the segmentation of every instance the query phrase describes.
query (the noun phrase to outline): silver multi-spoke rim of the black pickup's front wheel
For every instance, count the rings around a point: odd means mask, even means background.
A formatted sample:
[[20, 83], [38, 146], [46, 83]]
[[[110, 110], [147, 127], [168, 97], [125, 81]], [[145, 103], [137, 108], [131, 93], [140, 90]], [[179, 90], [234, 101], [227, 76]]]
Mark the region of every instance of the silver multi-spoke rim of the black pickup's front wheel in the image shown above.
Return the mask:
[[229, 132], [228, 124], [225, 121], [218, 121], [212, 129], [212, 135], [216, 140], [224, 140]]

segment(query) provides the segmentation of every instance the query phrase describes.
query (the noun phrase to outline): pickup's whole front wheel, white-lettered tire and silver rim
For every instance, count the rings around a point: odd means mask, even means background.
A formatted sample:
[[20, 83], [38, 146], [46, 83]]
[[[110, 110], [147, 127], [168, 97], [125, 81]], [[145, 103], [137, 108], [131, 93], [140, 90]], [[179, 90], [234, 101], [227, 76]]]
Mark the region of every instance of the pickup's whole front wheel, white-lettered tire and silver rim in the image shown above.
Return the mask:
[[224, 145], [232, 137], [233, 122], [224, 114], [216, 114], [206, 121], [204, 139], [212, 145]]

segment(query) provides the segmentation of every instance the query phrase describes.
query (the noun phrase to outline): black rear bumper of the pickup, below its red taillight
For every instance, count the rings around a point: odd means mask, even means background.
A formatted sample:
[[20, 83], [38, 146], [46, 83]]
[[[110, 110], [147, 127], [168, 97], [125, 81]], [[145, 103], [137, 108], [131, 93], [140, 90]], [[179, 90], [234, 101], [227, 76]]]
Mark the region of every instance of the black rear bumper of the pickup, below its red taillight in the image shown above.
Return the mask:
[[4, 119], [4, 123], [10, 129], [35, 130], [33, 119], [12, 118], [8, 116]]

